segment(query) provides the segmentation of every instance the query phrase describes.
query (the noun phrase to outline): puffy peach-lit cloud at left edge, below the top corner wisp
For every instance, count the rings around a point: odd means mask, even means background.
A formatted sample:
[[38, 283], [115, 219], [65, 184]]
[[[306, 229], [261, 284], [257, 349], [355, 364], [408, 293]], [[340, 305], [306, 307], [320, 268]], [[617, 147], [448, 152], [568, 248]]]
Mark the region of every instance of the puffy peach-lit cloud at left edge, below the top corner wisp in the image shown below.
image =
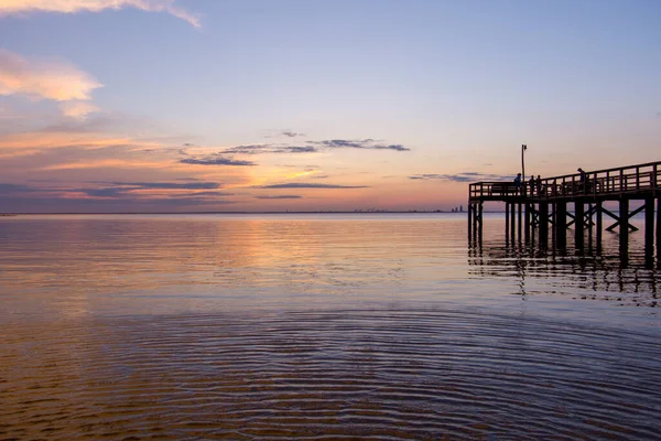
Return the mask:
[[102, 84], [68, 63], [28, 61], [0, 49], [0, 95], [55, 101], [89, 100], [98, 87]]

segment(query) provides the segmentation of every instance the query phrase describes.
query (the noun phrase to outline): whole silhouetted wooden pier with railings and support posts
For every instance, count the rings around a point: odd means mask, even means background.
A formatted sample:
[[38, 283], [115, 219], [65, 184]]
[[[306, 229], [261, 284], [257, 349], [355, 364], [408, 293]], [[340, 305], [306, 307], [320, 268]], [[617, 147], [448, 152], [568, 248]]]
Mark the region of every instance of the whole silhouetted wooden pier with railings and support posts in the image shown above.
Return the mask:
[[[575, 247], [582, 249], [585, 236], [600, 247], [604, 215], [613, 224], [607, 232], [619, 232], [620, 256], [629, 249], [629, 233], [638, 230], [629, 219], [644, 211], [644, 255], [661, 262], [661, 161], [616, 169], [596, 170], [539, 181], [476, 182], [468, 190], [468, 239], [481, 243], [483, 205], [485, 202], [505, 202], [506, 237], [512, 241], [538, 238], [542, 247], [549, 239], [555, 248], [564, 249], [567, 229], [574, 228]], [[642, 204], [630, 211], [632, 201]], [[604, 206], [617, 202], [615, 214]], [[573, 212], [567, 205], [573, 205]], [[655, 215], [654, 215], [655, 205]], [[655, 217], [655, 227], [654, 227]], [[655, 244], [655, 245], [654, 245]]]

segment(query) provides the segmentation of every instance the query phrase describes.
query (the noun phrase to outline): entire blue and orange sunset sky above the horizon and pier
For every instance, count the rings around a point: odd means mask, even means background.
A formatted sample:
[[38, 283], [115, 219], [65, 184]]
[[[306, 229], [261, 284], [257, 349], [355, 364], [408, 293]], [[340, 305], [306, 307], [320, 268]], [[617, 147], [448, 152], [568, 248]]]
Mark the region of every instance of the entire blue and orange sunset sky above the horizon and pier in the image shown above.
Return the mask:
[[658, 0], [0, 0], [0, 213], [449, 211], [661, 160]]

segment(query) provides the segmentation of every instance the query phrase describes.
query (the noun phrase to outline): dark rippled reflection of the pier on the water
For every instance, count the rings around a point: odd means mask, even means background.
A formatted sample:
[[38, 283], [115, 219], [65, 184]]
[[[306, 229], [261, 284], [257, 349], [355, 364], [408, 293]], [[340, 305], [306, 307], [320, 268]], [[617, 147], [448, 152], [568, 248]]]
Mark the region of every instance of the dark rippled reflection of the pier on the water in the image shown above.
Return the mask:
[[488, 219], [485, 227], [483, 241], [468, 248], [474, 276], [518, 279], [521, 294], [555, 292], [618, 305], [659, 306], [659, 271], [644, 256], [642, 232], [630, 236], [630, 250], [620, 256], [618, 235], [613, 233], [605, 233], [599, 244], [593, 239], [583, 248], [559, 250], [552, 244], [542, 246], [534, 236], [528, 243], [510, 241], [501, 218]]

